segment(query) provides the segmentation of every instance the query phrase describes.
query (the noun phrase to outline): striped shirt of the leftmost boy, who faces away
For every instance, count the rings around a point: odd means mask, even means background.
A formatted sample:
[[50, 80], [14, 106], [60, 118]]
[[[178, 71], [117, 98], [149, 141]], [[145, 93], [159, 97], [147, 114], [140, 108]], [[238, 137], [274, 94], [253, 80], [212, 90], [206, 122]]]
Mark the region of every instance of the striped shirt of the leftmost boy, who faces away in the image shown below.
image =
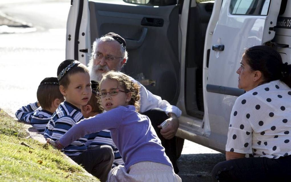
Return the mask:
[[15, 113], [19, 121], [25, 121], [36, 128], [40, 134], [44, 134], [47, 123], [52, 118], [53, 113], [37, 106], [37, 102], [23, 106]]

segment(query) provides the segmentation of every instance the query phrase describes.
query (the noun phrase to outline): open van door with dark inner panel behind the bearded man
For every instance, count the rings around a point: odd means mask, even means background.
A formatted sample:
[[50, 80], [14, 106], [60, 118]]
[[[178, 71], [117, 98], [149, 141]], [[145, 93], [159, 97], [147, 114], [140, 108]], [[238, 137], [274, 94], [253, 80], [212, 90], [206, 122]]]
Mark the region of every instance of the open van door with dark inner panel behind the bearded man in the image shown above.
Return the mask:
[[[74, 0], [74, 5], [79, 8], [71, 7], [68, 22], [76, 22], [72, 31], [78, 36], [71, 35], [71, 40], [67, 40], [66, 50], [74, 50], [74, 55], [67, 54], [66, 58], [87, 64], [93, 41], [108, 32], [115, 32], [125, 38], [129, 53], [122, 71], [141, 80], [149, 91], [172, 105], [177, 103], [180, 85], [179, 5], [149, 6], [125, 2], [121, 5], [87, 0]], [[76, 12], [79, 15], [76, 16]], [[72, 41], [72, 38], [75, 39]]]

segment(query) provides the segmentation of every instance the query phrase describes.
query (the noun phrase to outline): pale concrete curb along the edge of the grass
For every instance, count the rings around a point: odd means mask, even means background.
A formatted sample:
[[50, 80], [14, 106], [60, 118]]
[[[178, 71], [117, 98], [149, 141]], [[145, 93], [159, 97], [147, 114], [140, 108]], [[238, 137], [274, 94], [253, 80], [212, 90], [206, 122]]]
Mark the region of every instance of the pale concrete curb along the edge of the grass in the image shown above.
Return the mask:
[[[11, 116], [15, 121], [21, 122], [15, 117], [15, 114], [10, 109], [5, 109], [5, 110], [2, 109], [2, 110], [4, 112], [6, 112], [9, 116]], [[23, 123], [25, 131], [29, 134], [29, 136], [26, 138], [32, 138], [32, 139], [37, 140], [38, 142], [40, 142], [42, 144], [47, 143], [45, 138], [43, 137], [43, 135], [38, 134], [38, 131], [35, 128], [33, 128], [30, 124], [24, 123], [24, 122], [21, 122], [21, 123]], [[66, 160], [68, 160], [68, 162], [70, 162], [70, 164], [72, 164], [74, 166], [79, 166], [75, 161], [73, 161], [71, 158], [69, 158], [65, 154], [63, 156], [65, 157]], [[92, 174], [88, 173], [83, 167], [82, 167], [81, 173], [86, 175], [86, 176], [94, 177]]]

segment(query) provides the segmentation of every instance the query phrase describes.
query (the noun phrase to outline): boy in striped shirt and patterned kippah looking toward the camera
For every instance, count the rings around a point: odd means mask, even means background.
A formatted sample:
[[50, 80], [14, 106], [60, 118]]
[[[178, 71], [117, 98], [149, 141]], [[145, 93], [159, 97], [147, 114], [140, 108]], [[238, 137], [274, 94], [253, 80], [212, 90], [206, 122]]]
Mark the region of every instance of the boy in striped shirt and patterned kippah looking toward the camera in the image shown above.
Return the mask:
[[[65, 97], [45, 128], [44, 137], [52, 140], [61, 138], [84, 116], [81, 106], [87, 105], [91, 98], [91, 81], [87, 67], [72, 59], [63, 61], [57, 71], [60, 91]], [[107, 180], [107, 174], [113, 163], [113, 150], [110, 146], [99, 146], [87, 150], [88, 135], [72, 141], [62, 151], [72, 160], [82, 165], [86, 171], [101, 181]]]

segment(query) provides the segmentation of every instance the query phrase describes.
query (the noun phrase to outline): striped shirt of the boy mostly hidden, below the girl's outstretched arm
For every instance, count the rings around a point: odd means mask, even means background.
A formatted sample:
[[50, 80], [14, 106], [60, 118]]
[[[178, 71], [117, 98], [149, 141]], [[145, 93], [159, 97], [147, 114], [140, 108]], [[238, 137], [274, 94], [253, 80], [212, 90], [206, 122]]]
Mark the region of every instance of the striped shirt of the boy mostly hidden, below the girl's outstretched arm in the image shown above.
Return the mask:
[[96, 147], [100, 145], [109, 145], [112, 147], [113, 153], [114, 153], [114, 161], [113, 161], [112, 168], [118, 165], [124, 165], [122, 157], [116, 145], [114, 144], [113, 140], [111, 139], [109, 130], [102, 130], [100, 132], [89, 134], [88, 141], [86, 142], [86, 146], [88, 148], [91, 148], [91, 147]]

